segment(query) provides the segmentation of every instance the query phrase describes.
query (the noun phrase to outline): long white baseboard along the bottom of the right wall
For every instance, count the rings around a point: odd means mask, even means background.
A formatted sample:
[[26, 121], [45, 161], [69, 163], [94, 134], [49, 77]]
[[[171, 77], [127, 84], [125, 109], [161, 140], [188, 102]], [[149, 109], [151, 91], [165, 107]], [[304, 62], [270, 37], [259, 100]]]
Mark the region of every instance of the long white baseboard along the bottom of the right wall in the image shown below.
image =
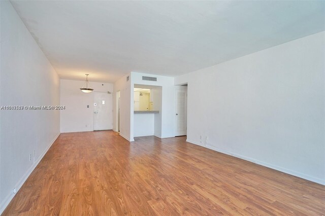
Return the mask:
[[256, 159], [253, 159], [253, 158], [250, 158], [250, 157], [246, 157], [246, 156], [239, 155], [239, 154], [236, 154], [236, 153], [228, 152], [228, 151], [219, 149], [219, 148], [214, 147], [214, 146], [210, 146], [210, 145], [204, 146], [202, 143], [198, 143], [197, 141], [192, 141], [192, 140], [188, 140], [188, 139], [186, 139], [186, 141], [190, 142], [190, 143], [193, 143], [195, 145], [198, 145], [198, 146], [202, 146], [202, 147], [207, 148], [207, 149], [211, 149], [211, 150], [216, 151], [216, 152], [220, 152], [220, 153], [223, 153], [223, 154], [226, 154], [226, 155], [234, 156], [236, 158], [240, 158], [240, 159], [243, 159], [243, 160], [246, 160], [246, 161], [249, 161], [249, 162], [253, 162], [255, 164], [259, 164], [259, 165], [262, 165], [262, 166], [265, 166], [265, 167], [268, 167], [268, 168], [271, 168], [271, 169], [275, 169], [275, 170], [278, 170], [278, 171], [281, 171], [281, 172], [284, 172], [284, 173], [287, 173], [287, 174], [290, 174], [290, 175], [295, 175], [297, 177], [304, 178], [304, 179], [306, 179], [308, 181], [311, 181], [311, 182], [315, 182], [315, 183], [318, 183], [318, 184], [321, 184], [321, 185], [325, 185], [325, 179], [316, 178], [316, 177], [306, 175], [304, 173], [300, 173], [300, 172], [297, 172], [297, 171], [294, 171], [294, 170], [286, 169], [286, 168], [283, 168], [283, 167], [280, 167], [280, 166], [277, 166], [277, 165], [274, 165], [274, 164], [266, 163], [266, 162], [259, 161], [259, 160], [256, 160]]

